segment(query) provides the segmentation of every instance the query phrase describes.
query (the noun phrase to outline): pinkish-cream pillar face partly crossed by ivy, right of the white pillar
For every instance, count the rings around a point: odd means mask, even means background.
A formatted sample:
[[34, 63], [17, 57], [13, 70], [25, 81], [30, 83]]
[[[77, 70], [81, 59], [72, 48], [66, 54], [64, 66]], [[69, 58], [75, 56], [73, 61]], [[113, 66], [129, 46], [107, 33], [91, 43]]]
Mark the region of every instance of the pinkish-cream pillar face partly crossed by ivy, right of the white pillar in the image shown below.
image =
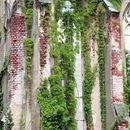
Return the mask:
[[[94, 69], [95, 66], [98, 65], [98, 44], [94, 39], [90, 40], [90, 59], [91, 59], [91, 67]], [[92, 102], [92, 117], [93, 117], [93, 129], [101, 130], [101, 104], [100, 104], [100, 85], [99, 85], [99, 70], [97, 69], [95, 84], [92, 89], [91, 94], [91, 102]]]

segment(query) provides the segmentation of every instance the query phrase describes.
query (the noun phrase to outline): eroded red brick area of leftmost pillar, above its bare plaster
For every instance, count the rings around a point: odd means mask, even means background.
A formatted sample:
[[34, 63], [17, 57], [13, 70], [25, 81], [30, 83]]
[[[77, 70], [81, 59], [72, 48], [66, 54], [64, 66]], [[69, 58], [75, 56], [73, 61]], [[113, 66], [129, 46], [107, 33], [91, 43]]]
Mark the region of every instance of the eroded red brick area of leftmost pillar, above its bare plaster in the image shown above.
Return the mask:
[[[21, 72], [24, 68], [24, 48], [23, 37], [25, 36], [25, 23], [24, 17], [15, 15], [11, 18], [10, 22], [10, 35], [11, 35], [11, 52], [10, 52], [10, 67], [9, 67], [9, 85], [10, 92], [9, 98], [14, 95], [14, 91], [21, 84]], [[21, 76], [22, 77], [22, 76]]]

